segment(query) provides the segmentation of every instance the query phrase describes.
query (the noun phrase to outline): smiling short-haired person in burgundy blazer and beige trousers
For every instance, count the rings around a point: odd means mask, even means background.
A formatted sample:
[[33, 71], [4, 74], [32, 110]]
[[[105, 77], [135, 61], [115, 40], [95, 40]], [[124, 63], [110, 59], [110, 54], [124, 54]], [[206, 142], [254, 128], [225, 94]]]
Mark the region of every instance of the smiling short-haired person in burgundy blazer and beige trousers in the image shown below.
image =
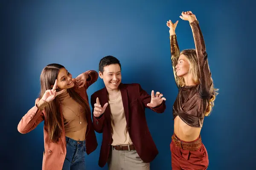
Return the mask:
[[113, 56], [100, 60], [99, 77], [105, 88], [91, 96], [93, 127], [103, 133], [99, 166], [108, 162], [110, 170], [149, 170], [158, 151], [148, 130], [145, 108], [163, 113], [166, 99], [159, 92], [148, 95], [140, 84], [122, 84], [121, 64]]

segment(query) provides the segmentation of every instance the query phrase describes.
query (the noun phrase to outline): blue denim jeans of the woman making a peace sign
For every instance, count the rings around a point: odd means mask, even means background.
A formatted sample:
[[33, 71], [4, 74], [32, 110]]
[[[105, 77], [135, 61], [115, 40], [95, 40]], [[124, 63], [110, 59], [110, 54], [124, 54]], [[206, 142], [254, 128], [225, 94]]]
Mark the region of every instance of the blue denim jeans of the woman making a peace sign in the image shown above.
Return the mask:
[[62, 170], [85, 170], [85, 140], [76, 141], [66, 136], [67, 154]]

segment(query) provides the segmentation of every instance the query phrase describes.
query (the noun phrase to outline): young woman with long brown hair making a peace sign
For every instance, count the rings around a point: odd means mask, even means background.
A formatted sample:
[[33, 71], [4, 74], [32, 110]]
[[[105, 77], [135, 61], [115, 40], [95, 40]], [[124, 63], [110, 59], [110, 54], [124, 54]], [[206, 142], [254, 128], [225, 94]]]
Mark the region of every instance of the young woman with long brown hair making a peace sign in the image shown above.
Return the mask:
[[97, 147], [87, 88], [98, 73], [86, 71], [76, 79], [59, 64], [49, 64], [41, 72], [41, 93], [18, 125], [28, 133], [44, 121], [43, 170], [85, 170], [85, 153]]

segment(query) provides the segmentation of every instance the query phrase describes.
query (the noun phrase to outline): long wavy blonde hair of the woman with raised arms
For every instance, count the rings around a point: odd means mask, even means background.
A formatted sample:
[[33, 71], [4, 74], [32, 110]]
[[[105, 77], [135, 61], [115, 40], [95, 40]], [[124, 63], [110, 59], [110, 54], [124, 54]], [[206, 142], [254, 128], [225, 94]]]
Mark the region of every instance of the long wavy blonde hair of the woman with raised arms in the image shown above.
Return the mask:
[[[192, 79], [195, 82], [195, 84], [200, 83], [200, 75], [199, 75], [199, 68], [198, 68], [198, 62], [197, 62], [197, 54], [195, 49], [186, 49], [180, 52], [180, 55], [183, 54], [189, 62], [189, 74], [192, 74]], [[178, 84], [180, 87], [183, 87], [185, 85], [184, 77], [178, 77]], [[209, 116], [209, 114], [212, 111], [212, 108], [214, 106], [214, 101], [216, 96], [218, 95], [218, 89], [213, 88], [213, 95], [209, 99], [208, 107], [204, 113], [204, 116]]]

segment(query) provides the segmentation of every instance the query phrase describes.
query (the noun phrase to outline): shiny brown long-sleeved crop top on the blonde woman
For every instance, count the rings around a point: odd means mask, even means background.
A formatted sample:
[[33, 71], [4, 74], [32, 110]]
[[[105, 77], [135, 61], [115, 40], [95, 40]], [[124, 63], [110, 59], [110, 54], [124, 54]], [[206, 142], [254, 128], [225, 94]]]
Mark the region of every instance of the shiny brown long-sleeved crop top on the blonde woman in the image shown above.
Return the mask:
[[197, 53], [197, 62], [200, 75], [198, 85], [183, 86], [178, 84], [175, 66], [180, 56], [180, 50], [176, 35], [170, 37], [172, 68], [176, 85], [179, 89], [177, 98], [173, 105], [173, 119], [179, 116], [187, 125], [192, 127], [202, 127], [204, 114], [207, 110], [209, 99], [213, 95], [213, 82], [209, 70], [207, 53], [204, 44], [204, 37], [199, 27], [198, 21], [190, 23], [195, 41], [195, 50]]

